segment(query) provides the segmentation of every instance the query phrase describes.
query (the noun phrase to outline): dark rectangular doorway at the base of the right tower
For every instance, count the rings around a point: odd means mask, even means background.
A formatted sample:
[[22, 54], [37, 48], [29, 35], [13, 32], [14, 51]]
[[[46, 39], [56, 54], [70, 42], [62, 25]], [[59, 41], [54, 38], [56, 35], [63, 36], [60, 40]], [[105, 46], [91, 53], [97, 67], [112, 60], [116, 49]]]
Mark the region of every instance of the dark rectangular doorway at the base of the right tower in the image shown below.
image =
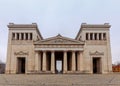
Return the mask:
[[100, 73], [100, 58], [93, 58], [93, 73]]

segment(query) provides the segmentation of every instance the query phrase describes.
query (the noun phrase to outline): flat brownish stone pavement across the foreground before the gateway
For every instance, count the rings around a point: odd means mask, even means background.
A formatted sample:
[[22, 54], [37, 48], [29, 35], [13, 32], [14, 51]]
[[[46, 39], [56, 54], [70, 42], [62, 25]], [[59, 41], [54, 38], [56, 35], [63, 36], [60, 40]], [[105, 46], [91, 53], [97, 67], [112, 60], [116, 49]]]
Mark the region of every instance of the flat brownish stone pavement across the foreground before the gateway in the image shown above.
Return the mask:
[[120, 74], [1, 74], [0, 86], [120, 86]]

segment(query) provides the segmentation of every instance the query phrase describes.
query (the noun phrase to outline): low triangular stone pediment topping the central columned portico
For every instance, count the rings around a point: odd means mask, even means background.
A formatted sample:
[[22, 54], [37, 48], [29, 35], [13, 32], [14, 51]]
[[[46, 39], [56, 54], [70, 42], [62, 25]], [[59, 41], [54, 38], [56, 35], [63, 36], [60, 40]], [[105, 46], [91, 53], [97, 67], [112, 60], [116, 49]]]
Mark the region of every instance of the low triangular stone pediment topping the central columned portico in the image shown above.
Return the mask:
[[84, 44], [83, 41], [77, 41], [75, 39], [63, 37], [58, 34], [55, 37], [47, 38], [34, 42], [34, 44]]

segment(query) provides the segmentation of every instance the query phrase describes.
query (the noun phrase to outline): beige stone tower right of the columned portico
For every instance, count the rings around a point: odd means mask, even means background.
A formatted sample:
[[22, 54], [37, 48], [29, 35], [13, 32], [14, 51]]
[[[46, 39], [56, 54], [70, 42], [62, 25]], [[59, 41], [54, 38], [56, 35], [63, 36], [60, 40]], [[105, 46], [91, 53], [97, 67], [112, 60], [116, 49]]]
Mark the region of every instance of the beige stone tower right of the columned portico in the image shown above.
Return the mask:
[[84, 72], [112, 72], [110, 27], [108, 23], [101, 25], [82, 23], [76, 40], [85, 41]]

